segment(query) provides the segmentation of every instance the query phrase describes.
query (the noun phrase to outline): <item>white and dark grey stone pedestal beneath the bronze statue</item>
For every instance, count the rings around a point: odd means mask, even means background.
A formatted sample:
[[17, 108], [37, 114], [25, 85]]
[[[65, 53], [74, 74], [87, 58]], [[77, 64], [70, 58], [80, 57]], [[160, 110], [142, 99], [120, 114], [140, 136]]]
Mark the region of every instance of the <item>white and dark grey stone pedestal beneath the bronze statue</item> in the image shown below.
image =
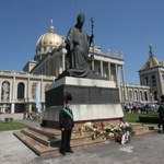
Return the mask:
[[65, 77], [46, 92], [45, 126], [58, 128], [66, 92], [73, 97], [71, 109], [77, 126], [86, 121], [119, 121], [124, 116], [115, 82]]

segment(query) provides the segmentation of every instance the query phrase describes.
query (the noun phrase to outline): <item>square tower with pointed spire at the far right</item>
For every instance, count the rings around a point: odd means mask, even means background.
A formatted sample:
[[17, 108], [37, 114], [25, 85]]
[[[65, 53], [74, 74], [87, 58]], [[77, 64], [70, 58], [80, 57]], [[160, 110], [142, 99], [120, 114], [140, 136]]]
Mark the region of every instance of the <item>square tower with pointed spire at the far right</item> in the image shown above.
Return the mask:
[[150, 99], [157, 102], [164, 94], [164, 61], [155, 57], [152, 45], [149, 46], [149, 59], [139, 70], [140, 84], [150, 86]]

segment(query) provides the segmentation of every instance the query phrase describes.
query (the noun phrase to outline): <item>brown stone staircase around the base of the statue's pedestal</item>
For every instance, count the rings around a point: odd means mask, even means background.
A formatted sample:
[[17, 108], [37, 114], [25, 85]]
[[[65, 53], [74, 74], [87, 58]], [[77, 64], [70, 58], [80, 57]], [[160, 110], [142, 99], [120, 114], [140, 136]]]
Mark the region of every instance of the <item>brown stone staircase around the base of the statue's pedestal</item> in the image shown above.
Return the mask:
[[[141, 124], [132, 124], [132, 127], [137, 136], [155, 131], [149, 130], [148, 126], [142, 126]], [[28, 129], [14, 131], [13, 134], [39, 156], [47, 156], [50, 154], [59, 153], [61, 139], [60, 130], [43, 127], [28, 127]], [[77, 149], [107, 141], [106, 139], [102, 138], [92, 140], [91, 136], [91, 132], [84, 132], [83, 134], [80, 132], [73, 132], [71, 148]]]

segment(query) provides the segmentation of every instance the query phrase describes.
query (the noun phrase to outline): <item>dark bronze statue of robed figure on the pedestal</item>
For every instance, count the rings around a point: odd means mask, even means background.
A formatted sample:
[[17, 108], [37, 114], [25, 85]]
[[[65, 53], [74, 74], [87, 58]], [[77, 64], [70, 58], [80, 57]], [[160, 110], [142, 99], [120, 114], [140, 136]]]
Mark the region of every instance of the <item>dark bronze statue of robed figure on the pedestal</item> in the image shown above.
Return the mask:
[[67, 73], [71, 77], [89, 78], [93, 74], [89, 67], [89, 50], [94, 35], [89, 36], [82, 30], [84, 21], [85, 15], [80, 13], [77, 17], [75, 26], [70, 28], [66, 39], [66, 48], [70, 62]]

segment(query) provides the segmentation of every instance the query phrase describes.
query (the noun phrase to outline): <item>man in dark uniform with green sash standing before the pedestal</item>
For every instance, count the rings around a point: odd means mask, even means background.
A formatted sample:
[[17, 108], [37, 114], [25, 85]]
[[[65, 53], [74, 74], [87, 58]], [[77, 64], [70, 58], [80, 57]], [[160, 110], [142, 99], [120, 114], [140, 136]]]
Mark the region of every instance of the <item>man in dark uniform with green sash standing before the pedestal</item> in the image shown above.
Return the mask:
[[62, 155], [66, 155], [66, 152], [73, 153], [70, 141], [74, 121], [72, 110], [70, 109], [70, 101], [66, 101], [65, 107], [60, 110], [59, 124], [61, 129], [61, 147], [59, 151]]

